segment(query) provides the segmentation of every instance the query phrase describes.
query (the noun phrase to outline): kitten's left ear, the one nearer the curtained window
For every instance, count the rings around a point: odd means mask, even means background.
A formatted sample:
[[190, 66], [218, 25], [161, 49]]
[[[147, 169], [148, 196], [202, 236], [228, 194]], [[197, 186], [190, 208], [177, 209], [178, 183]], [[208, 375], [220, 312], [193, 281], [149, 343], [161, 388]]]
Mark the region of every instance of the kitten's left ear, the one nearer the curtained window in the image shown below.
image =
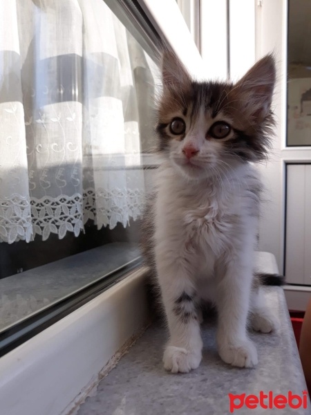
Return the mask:
[[191, 85], [187, 69], [171, 50], [162, 52], [162, 81], [169, 90], [188, 89]]

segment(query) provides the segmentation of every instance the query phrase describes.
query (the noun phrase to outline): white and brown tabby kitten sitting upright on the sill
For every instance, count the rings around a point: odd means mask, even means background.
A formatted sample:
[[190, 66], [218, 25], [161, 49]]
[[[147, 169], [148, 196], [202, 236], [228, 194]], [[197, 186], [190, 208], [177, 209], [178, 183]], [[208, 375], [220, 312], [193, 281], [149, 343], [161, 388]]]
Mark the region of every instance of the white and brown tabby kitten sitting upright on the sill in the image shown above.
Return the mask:
[[143, 250], [160, 286], [170, 333], [163, 362], [173, 373], [200, 365], [204, 302], [216, 305], [218, 353], [231, 365], [258, 362], [248, 316], [256, 331], [276, 329], [253, 275], [262, 185], [252, 165], [269, 149], [275, 77], [267, 55], [236, 84], [196, 82], [163, 53], [156, 131], [164, 162]]

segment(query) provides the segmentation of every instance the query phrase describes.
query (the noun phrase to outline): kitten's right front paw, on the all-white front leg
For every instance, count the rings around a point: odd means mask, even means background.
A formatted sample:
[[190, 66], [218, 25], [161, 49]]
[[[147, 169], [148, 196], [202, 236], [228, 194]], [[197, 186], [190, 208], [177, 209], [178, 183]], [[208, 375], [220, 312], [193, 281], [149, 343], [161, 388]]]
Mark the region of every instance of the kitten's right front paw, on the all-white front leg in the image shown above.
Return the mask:
[[258, 363], [256, 347], [250, 340], [226, 344], [218, 348], [218, 353], [224, 362], [232, 366], [254, 367]]

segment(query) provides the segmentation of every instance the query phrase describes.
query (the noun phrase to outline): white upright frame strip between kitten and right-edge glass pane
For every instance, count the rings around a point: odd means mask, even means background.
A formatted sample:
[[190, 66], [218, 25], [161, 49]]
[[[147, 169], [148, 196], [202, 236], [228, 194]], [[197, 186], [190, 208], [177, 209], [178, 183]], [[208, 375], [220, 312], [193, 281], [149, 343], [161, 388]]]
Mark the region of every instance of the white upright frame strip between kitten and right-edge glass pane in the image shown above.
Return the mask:
[[285, 143], [286, 127], [286, 27], [286, 1], [263, 1], [261, 7], [256, 7], [256, 59], [274, 52], [277, 70], [272, 103], [276, 118], [275, 137], [270, 160], [261, 165], [268, 201], [262, 211], [259, 248], [275, 255], [281, 273], [285, 223], [285, 166], [281, 148]]

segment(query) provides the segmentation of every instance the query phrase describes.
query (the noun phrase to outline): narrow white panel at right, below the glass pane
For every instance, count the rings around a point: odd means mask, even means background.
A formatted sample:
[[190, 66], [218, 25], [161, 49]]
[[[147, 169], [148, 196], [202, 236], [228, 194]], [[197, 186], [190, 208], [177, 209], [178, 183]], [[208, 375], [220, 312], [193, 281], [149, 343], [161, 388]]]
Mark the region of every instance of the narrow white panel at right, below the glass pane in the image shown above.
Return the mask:
[[287, 173], [285, 276], [304, 284], [305, 165], [288, 165]]

